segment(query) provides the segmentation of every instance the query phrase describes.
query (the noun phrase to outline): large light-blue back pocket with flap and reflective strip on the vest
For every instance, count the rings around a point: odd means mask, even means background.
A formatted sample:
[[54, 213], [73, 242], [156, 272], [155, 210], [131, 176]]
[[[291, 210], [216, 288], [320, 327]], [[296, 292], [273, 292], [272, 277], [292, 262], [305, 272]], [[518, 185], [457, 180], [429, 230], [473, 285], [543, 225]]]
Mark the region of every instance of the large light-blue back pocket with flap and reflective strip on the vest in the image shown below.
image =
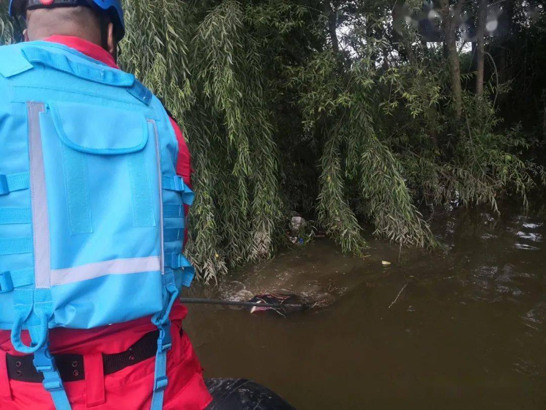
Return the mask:
[[161, 309], [159, 150], [144, 114], [50, 102], [39, 129], [56, 322], [92, 327]]

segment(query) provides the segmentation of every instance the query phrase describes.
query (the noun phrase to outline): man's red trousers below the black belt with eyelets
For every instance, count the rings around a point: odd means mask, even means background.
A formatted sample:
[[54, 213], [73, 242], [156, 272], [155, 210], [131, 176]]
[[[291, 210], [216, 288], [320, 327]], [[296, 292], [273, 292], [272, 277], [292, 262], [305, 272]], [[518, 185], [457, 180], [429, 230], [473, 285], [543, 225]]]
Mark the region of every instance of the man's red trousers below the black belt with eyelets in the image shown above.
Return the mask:
[[[173, 348], [168, 352], [169, 384], [165, 390], [163, 408], [203, 410], [211, 401], [211, 396], [204, 385], [199, 360], [188, 336], [185, 333], [180, 335], [179, 323], [173, 323], [171, 335]], [[73, 410], [150, 408], [155, 357], [103, 376], [102, 356], [96, 353], [83, 354], [86, 379], [64, 383]], [[50, 394], [41, 383], [8, 380], [5, 350], [1, 349], [0, 409], [55, 410]]]

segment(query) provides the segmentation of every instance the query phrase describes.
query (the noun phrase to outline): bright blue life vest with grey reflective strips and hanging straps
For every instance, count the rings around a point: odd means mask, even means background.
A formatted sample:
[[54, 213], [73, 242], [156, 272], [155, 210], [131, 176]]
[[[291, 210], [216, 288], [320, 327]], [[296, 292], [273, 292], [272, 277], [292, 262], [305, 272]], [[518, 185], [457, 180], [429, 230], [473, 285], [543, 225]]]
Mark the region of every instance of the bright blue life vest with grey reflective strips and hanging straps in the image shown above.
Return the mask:
[[132, 74], [59, 44], [0, 47], [0, 329], [34, 354], [57, 409], [70, 405], [48, 330], [147, 315], [162, 408], [169, 312], [194, 274], [177, 155], [165, 109]]

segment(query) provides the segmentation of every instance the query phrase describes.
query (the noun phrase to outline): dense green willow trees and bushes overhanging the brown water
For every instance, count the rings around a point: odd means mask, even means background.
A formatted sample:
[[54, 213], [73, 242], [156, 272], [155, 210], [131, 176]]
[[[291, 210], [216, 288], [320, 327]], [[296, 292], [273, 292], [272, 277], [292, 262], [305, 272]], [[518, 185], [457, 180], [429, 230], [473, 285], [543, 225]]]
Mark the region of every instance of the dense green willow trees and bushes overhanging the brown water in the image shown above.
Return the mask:
[[420, 212], [525, 203], [544, 183], [533, 162], [546, 130], [541, 2], [126, 9], [120, 63], [164, 98], [192, 150], [188, 253], [205, 280], [274, 255], [294, 212], [346, 252], [363, 250], [367, 225], [436, 247]]

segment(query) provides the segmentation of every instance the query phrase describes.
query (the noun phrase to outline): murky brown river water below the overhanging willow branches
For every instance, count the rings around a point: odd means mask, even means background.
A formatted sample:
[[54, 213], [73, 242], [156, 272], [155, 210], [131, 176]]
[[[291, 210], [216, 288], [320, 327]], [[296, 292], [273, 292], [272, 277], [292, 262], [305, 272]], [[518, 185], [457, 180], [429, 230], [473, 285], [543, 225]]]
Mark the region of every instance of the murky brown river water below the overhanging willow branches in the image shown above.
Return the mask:
[[437, 253], [372, 241], [358, 259], [321, 239], [197, 290], [238, 300], [292, 291], [321, 308], [282, 318], [191, 306], [186, 331], [206, 377], [256, 380], [298, 409], [545, 409], [537, 214], [441, 215], [434, 231], [447, 249]]

